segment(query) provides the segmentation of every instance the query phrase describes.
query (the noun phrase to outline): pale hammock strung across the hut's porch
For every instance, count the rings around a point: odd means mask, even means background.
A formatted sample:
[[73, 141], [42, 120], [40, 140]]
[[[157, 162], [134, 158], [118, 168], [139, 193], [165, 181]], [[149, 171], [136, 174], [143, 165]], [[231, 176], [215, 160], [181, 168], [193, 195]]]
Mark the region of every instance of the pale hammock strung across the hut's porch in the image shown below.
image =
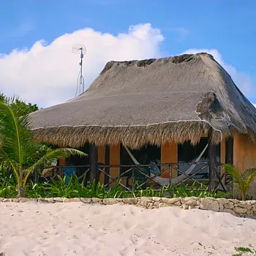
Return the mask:
[[[169, 178], [162, 178], [162, 177], [154, 177], [155, 175], [151, 173], [151, 177], [153, 176], [153, 180], [154, 181], [157, 181], [159, 184], [162, 184], [162, 185], [167, 185], [167, 184], [171, 184], [172, 185], [176, 185], [176, 184], [180, 184], [182, 181], [184, 181], [184, 179], [188, 178], [187, 176], [193, 172], [193, 170], [195, 169], [195, 167], [197, 166], [197, 162], [200, 161], [200, 159], [203, 157], [203, 154], [206, 152], [206, 149], [208, 147], [208, 144], [206, 145], [205, 148], [203, 148], [203, 151], [201, 152], [201, 154], [197, 157], [197, 159], [195, 160], [195, 163], [193, 165], [191, 165], [189, 167], [189, 169], [185, 172], [185, 174], [181, 174], [180, 176], [176, 177], [176, 178], [172, 178], [171, 181]], [[132, 152], [129, 151], [129, 149], [124, 146], [124, 148], [126, 149], [127, 153], [129, 154], [129, 157], [131, 157], [132, 161], [135, 163], [135, 165], [140, 165], [140, 163], [137, 161], [137, 159], [135, 159], [135, 157], [132, 155]]]

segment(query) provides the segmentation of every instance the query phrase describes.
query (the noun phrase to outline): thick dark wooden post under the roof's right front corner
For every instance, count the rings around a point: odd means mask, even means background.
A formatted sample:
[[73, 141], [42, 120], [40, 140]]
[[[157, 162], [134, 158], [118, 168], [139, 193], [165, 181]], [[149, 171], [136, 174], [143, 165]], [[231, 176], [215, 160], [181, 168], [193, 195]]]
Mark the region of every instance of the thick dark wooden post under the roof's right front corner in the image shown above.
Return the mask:
[[209, 159], [209, 190], [213, 192], [219, 185], [217, 165], [217, 145], [211, 143], [211, 134], [208, 136], [208, 159]]

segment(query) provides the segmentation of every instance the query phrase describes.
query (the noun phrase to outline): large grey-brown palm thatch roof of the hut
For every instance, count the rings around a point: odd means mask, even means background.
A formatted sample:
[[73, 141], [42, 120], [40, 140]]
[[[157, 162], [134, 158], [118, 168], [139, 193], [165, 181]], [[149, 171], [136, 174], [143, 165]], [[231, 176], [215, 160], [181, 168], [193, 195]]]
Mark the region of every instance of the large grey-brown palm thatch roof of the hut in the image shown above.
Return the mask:
[[213, 56], [185, 54], [110, 61], [80, 96], [31, 113], [31, 129], [72, 147], [197, 143], [210, 131], [213, 143], [234, 132], [256, 142], [256, 109]]

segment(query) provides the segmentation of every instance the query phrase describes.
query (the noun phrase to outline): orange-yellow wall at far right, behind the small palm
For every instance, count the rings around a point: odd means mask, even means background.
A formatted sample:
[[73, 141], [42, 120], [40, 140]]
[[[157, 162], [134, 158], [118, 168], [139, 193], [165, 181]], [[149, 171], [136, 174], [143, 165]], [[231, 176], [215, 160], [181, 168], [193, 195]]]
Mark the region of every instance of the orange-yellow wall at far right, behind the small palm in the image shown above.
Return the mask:
[[[246, 135], [234, 136], [234, 166], [240, 170], [256, 167], [256, 144], [252, 143]], [[256, 198], [256, 180], [252, 182], [251, 195]]]

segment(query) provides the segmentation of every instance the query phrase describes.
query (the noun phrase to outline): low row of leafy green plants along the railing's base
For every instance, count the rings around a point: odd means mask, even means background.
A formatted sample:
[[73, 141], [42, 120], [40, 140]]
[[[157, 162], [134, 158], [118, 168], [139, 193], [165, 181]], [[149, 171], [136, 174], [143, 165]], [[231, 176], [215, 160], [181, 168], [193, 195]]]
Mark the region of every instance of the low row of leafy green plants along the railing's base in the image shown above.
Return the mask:
[[[0, 173], [1, 176], [1, 173]], [[3, 175], [2, 175], [3, 176]], [[154, 187], [146, 187], [146, 189], [136, 189], [136, 183], [130, 191], [121, 187], [120, 181], [116, 182], [114, 187], [106, 188], [104, 184], [96, 183], [85, 186], [86, 176], [83, 181], [78, 181], [78, 176], [69, 178], [66, 182], [66, 176], [57, 176], [56, 179], [51, 178], [48, 182], [34, 183], [29, 181], [26, 184], [26, 197], [98, 197], [98, 198], [127, 198], [127, 197], [223, 197], [223, 192], [208, 192], [208, 189], [201, 184], [192, 185], [181, 184], [178, 187], [162, 186], [161, 189], [155, 190]], [[0, 178], [0, 197], [16, 197], [15, 178], [10, 175], [9, 178]]]

